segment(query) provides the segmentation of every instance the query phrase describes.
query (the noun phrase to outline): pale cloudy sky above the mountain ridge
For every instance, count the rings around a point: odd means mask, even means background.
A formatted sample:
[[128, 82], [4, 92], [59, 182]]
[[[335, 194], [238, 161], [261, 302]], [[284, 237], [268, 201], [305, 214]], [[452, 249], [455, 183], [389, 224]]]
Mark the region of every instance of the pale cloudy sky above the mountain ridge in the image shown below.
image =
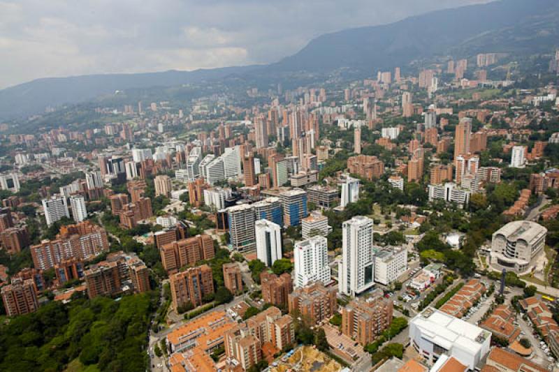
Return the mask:
[[487, 0], [0, 0], [0, 89], [274, 62], [312, 38]]

